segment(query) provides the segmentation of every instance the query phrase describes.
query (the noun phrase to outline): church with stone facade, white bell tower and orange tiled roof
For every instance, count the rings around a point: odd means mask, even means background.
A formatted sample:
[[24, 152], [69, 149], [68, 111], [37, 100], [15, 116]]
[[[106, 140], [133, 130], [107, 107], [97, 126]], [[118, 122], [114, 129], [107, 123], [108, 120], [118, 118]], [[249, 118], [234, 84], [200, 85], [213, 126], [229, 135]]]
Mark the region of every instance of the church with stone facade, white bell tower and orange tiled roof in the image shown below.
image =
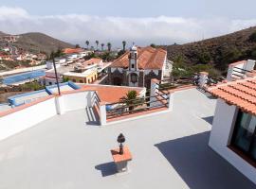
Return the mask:
[[150, 88], [152, 78], [163, 79], [168, 63], [165, 50], [134, 45], [109, 66], [108, 83]]

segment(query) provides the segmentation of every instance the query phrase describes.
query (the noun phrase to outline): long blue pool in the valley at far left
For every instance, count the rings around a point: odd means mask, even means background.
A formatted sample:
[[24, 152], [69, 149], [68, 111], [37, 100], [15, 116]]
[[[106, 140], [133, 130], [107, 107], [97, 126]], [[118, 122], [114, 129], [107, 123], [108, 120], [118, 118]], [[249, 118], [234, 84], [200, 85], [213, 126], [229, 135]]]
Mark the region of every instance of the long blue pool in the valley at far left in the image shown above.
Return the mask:
[[11, 77], [4, 77], [3, 83], [6, 85], [10, 85], [16, 82], [21, 82], [27, 79], [44, 77], [46, 76], [46, 72], [44, 70], [36, 70], [32, 72], [27, 72], [24, 74], [13, 75]]

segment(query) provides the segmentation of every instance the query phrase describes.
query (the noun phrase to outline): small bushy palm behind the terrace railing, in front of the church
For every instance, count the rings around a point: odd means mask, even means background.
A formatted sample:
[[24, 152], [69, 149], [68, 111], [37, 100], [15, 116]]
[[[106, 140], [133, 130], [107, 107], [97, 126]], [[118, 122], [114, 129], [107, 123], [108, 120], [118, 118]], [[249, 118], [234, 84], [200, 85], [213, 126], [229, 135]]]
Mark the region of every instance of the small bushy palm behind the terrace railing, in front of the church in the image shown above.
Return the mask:
[[[125, 96], [120, 98], [120, 102], [129, 106], [129, 111], [132, 111], [139, 104], [143, 103], [143, 99], [137, 97], [137, 91], [129, 91]], [[133, 106], [134, 105], [134, 106]]]

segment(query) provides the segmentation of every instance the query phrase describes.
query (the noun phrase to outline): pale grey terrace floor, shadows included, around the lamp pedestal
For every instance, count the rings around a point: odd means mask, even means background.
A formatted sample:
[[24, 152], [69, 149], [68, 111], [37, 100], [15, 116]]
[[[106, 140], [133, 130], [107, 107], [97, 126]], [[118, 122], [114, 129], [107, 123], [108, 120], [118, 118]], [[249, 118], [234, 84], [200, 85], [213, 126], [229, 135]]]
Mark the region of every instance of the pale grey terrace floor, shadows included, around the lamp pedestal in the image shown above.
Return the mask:
[[[214, 106], [192, 89], [175, 94], [174, 112], [104, 128], [84, 110], [52, 117], [0, 142], [0, 188], [256, 188], [208, 146]], [[120, 132], [134, 160], [115, 175]]]

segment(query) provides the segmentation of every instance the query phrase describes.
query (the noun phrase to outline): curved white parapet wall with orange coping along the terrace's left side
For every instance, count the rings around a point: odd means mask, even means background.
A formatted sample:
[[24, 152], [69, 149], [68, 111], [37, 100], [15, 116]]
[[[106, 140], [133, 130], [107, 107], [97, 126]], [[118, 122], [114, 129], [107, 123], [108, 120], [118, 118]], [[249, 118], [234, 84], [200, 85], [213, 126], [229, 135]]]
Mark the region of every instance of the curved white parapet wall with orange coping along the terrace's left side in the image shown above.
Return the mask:
[[92, 105], [93, 91], [50, 96], [33, 104], [17, 107], [0, 116], [0, 141], [29, 129], [57, 114], [84, 109]]

